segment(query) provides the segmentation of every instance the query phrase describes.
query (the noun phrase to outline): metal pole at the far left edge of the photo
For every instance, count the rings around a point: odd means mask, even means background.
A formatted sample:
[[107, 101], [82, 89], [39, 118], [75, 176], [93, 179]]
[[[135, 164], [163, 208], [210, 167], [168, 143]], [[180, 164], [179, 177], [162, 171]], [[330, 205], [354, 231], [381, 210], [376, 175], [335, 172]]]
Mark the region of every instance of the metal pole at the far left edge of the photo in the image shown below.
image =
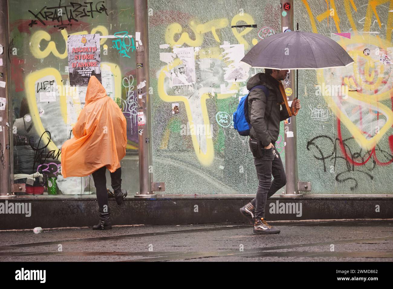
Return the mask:
[[9, 86], [8, 3], [0, 0], [0, 195], [11, 194], [13, 177], [12, 101]]

